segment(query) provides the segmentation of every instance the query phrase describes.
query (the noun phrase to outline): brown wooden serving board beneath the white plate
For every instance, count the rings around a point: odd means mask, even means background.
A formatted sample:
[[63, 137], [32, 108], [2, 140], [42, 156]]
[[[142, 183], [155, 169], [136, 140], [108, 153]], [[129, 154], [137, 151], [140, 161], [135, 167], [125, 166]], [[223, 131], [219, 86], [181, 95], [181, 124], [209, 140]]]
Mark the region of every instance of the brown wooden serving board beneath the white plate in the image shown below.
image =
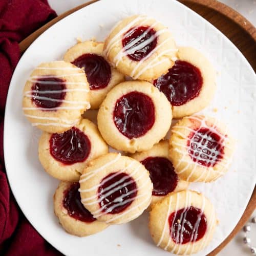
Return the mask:
[[[72, 10], [69, 10], [58, 17], [51, 20], [46, 25], [42, 26], [34, 33], [29, 35], [19, 44], [20, 51], [23, 53], [32, 44], [32, 42], [45, 30], [50, 28], [53, 24], [60, 19], [68, 16], [69, 14], [86, 7], [98, 0], [93, 0], [89, 3], [80, 5]], [[256, 29], [237, 11], [232, 8], [218, 2], [217, 0], [179, 0], [182, 4], [186, 5], [190, 9], [197, 12], [199, 15], [208, 20], [212, 25], [218, 28], [223, 34], [225, 34], [234, 45], [243, 53], [246, 59], [249, 61], [253, 70], [256, 71]], [[228, 244], [228, 242], [236, 236], [241, 230], [244, 224], [251, 216], [253, 210], [256, 208], [256, 187], [252, 193], [251, 199], [244, 211], [243, 216], [238, 222], [237, 226], [229, 234], [229, 236], [208, 256], [215, 256], [221, 251], [221, 249]]]

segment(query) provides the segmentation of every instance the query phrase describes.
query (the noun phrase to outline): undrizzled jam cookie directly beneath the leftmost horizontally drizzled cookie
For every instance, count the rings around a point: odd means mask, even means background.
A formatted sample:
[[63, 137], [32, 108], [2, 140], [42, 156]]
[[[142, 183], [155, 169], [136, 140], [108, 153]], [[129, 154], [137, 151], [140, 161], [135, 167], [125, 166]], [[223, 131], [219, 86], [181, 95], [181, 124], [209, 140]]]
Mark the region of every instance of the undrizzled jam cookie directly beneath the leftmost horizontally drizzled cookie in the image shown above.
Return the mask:
[[78, 181], [88, 161], [106, 153], [108, 145], [88, 119], [81, 119], [63, 133], [42, 133], [38, 147], [46, 172], [63, 181]]

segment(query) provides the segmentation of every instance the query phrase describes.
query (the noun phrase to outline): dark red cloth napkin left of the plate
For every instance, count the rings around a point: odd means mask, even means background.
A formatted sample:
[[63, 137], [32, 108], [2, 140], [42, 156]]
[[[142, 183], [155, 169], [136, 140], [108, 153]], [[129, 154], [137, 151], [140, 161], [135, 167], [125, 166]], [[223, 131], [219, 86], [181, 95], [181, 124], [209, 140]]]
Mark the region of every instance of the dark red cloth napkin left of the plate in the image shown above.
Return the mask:
[[7, 181], [3, 151], [5, 104], [10, 79], [20, 58], [18, 42], [54, 17], [56, 13], [47, 0], [0, 0], [0, 255], [60, 254], [18, 208]]

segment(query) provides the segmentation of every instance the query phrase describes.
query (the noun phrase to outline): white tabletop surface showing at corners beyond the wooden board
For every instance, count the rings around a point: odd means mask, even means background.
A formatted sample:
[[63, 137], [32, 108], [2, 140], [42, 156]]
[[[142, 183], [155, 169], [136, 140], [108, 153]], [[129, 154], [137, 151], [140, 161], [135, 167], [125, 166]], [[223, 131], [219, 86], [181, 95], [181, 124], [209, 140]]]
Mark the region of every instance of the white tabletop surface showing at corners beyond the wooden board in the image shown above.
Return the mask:
[[[48, 0], [51, 7], [61, 14], [68, 11], [78, 5], [89, 2], [86, 0]], [[245, 16], [249, 22], [254, 26], [256, 25], [256, 0], [222, 0], [220, 1], [226, 5], [229, 5], [236, 11], [240, 12]], [[253, 213], [256, 216], [256, 210]], [[256, 224], [250, 224], [251, 231], [249, 237], [251, 238], [251, 243], [256, 247]], [[251, 255], [249, 248], [243, 244], [244, 233], [240, 231], [237, 236], [232, 239], [232, 241], [218, 254], [219, 256], [231, 255], [231, 256], [242, 256]]]

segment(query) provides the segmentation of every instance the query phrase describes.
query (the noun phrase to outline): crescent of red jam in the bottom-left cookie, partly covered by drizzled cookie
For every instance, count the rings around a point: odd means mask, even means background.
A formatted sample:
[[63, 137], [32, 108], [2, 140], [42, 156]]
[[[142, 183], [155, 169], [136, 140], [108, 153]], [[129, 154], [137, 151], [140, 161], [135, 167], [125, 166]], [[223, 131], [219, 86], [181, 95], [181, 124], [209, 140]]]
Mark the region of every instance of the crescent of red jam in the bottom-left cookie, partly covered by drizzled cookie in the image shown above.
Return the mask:
[[79, 183], [73, 182], [70, 187], [64, 191], [63, 207], [67, 209], [70, 217], [83, 222], [93, 222], [96, 219], [93, 218], [89, 210], [83, 207], [78, 189]]

